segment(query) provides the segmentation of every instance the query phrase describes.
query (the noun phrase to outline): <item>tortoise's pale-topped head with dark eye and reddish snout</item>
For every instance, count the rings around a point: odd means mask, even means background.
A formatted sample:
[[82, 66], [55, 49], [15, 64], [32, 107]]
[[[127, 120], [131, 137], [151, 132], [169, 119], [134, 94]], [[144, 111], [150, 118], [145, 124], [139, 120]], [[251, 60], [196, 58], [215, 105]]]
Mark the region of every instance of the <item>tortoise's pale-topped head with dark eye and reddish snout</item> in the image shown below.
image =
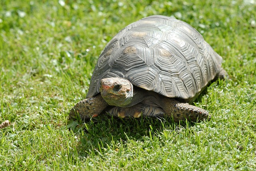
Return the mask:
[[133, 85], [124, 78], [104, 78], [100, 81], [100, 93], [109, 105], [127, 107], [132, 101]]

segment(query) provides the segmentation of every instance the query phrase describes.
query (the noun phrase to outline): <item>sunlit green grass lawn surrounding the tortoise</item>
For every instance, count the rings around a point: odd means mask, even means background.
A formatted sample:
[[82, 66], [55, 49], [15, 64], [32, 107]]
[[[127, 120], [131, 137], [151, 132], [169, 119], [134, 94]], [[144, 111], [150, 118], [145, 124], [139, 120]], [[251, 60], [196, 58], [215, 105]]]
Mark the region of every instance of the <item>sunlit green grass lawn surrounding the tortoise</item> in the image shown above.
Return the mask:
[[[255, 0], [1, 0], [0, 170], [256, 169]], [[209, 122], [68, 121], [106, 43], [142, 17], [175, 16], [223, 56], [230, 78], [195, 102]], [[73, 125], [72, 125], [73, 124]], [[71, 127], [73, 129], [68, 129]]]

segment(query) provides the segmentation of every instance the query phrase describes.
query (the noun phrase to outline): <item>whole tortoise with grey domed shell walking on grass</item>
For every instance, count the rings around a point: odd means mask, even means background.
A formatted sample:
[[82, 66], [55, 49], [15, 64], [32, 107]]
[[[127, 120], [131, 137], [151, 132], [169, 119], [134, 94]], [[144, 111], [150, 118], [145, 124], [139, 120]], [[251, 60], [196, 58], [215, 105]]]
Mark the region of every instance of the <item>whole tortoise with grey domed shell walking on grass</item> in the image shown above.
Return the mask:
[[190, 105], [209, 82], [227, 76], [222, 57], [186, 22], [154, 15], [122, 29], [104, 48], [86, 99], [70, 118], [168, 115], [178, 122], [209, 120]]

